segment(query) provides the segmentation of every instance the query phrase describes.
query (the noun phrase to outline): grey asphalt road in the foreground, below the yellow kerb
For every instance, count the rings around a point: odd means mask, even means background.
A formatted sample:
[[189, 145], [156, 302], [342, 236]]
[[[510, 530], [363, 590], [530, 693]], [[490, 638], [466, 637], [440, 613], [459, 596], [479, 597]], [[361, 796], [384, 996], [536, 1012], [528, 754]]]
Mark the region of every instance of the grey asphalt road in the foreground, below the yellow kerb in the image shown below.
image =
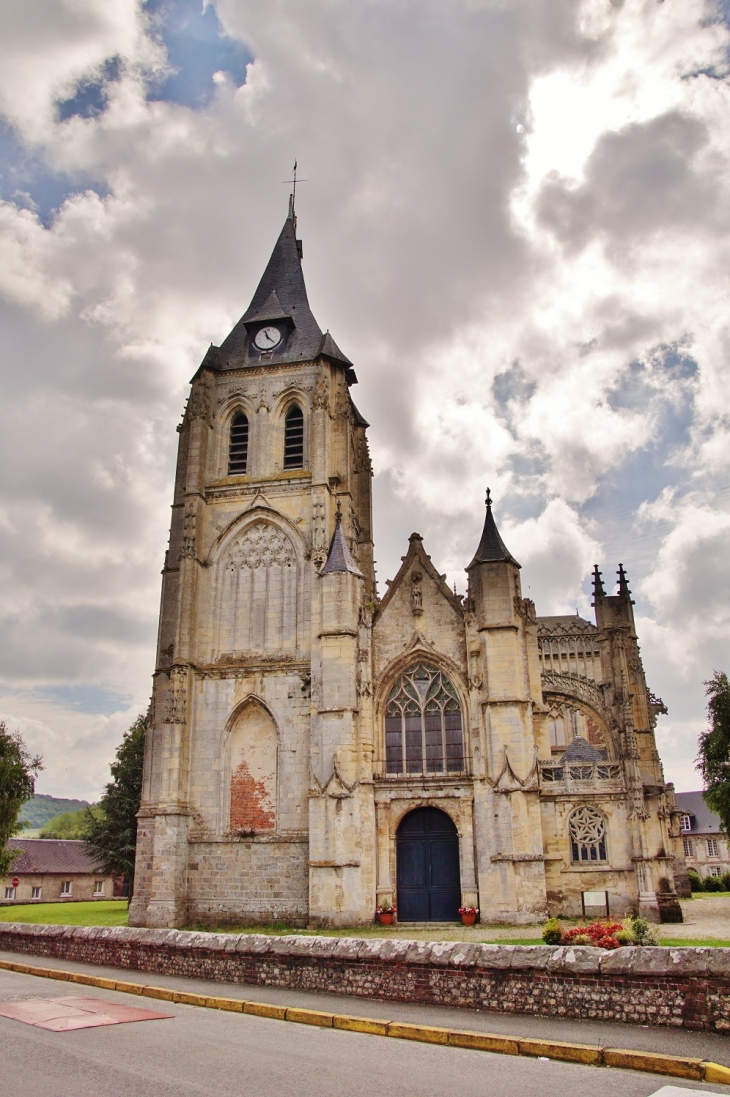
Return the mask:
[[[0, 1017], [3, 1097], [530, 1097], [555, 1092], [586, 1097], [598, 1089], [602, 1097], [649, 1097], [671, 1081], [311, 1028], [0, 971], [0, 999], [69, 994], [175, 1016], [61, 1033]], [[720, 1086], [673, 1084], [727, 1094]]]

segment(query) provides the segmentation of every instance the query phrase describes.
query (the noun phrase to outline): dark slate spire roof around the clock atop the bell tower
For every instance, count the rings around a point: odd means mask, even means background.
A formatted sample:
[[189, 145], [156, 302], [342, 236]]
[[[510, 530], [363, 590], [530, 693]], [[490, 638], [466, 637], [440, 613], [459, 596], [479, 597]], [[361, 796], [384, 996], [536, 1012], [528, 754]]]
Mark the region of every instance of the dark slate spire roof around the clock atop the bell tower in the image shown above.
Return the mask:
[[[291, 324], [291, 330], [278, 351], [274, 349], [261, 359], [259, 351], [249, 344], [247, 325], [267, 320], [287, 320]], [[259, 365], [262, 361], [271, 365], [308, 362], [324, 354], [349, 367], [349, 384], [357, 381], [349, 358], [342, 353], [328, 331], [323, 335], [310, 308], [302, 273], [301, 245], [296, 239], [296, 223], [291, 211], [250, 305], [231, 335], [213, 351], [213, 354], [209, 351], [204, 363], [220, 370]]]

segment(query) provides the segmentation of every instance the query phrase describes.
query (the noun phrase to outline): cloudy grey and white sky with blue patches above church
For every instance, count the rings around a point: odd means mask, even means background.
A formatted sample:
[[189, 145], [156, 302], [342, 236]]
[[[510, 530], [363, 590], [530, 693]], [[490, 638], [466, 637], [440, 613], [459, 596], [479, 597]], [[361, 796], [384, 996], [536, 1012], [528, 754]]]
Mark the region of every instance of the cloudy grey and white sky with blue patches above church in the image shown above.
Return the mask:
[[540, 613], [627, 568], [666, 776], [730, 669], [730, 5], [0, 10], [0, 713], [96, 798], [147, 704], [188, 382], [291, 166], [371, 422], [381, 591], [457, 589], [488, 484]]

